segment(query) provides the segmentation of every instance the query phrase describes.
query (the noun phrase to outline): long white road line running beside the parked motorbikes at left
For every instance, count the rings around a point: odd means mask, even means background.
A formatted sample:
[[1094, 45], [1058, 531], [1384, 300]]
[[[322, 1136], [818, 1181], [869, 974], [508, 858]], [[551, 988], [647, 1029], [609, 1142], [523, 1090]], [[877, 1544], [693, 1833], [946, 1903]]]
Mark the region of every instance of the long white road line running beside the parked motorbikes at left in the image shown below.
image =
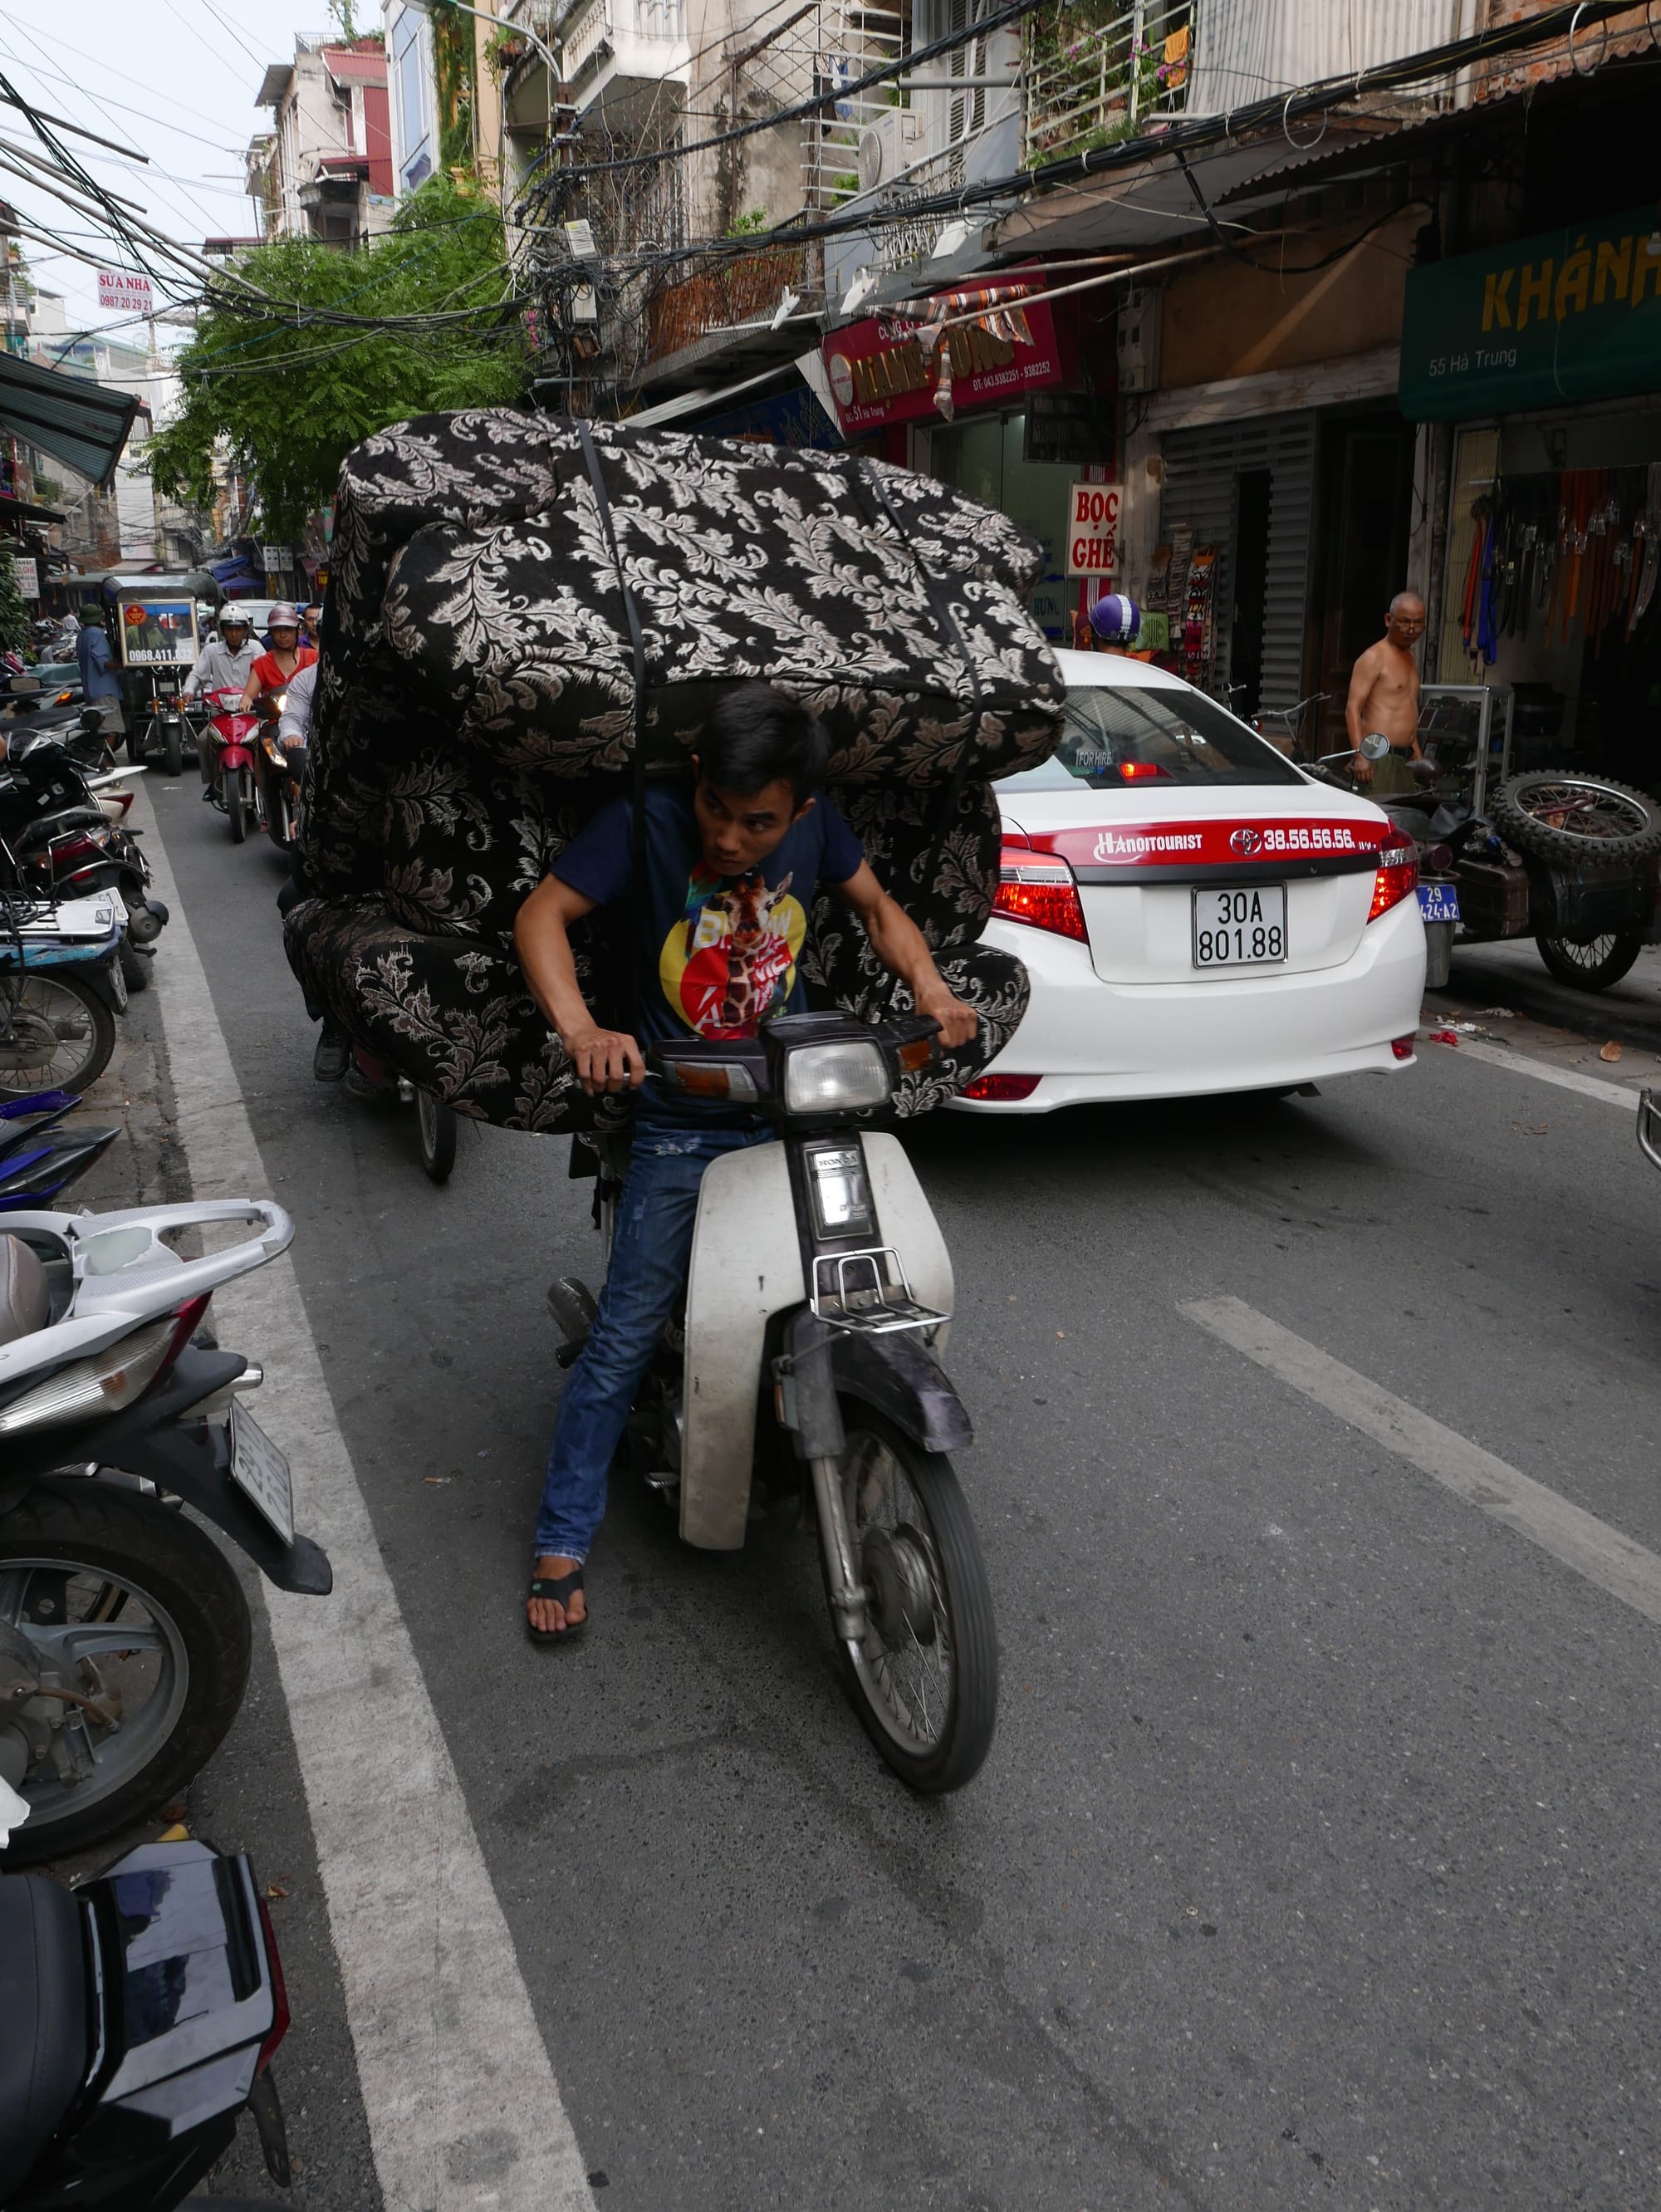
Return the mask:
[[[195, 796], [195, 783], [173, 790]], [[155, 830], [146, 849], [173, 909], [155, 989], [192, 1190], [263, 1197], [272, 1183]], [[279, 927], [274, 905], [252, 920]], [[387, 2212], [593, 2212], [290, 1261], [221, 1290], [215, 1321], [265, 1367], [259, 1420], [294, 1462], [296, 1526], [334, 1566], [332, 1597], [261, 1588]]]

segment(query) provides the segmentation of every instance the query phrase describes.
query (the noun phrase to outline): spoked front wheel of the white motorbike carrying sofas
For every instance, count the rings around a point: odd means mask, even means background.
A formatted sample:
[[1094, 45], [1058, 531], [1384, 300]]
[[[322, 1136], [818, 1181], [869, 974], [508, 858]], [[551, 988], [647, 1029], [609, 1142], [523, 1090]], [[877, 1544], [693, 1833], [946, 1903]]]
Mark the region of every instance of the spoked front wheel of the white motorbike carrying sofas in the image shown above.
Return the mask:
[[869, 1593], [838, 1639], [865, 1732], [902, 1783], [962, 1790], [997, 1728], [997, 1628], [980, 1540], [951, 1460], [843, 1400], [843, 1509]]

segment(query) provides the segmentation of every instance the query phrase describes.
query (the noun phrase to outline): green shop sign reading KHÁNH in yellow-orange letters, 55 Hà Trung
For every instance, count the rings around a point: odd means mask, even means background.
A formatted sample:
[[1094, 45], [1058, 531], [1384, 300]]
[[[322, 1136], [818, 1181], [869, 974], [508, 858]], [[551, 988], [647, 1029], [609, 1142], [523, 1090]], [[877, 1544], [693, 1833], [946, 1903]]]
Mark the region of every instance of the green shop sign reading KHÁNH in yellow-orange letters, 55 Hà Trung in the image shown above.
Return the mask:
[[1654, 206], [1407, 276], [1400, 407], [1458, 422], [1661, 392]]

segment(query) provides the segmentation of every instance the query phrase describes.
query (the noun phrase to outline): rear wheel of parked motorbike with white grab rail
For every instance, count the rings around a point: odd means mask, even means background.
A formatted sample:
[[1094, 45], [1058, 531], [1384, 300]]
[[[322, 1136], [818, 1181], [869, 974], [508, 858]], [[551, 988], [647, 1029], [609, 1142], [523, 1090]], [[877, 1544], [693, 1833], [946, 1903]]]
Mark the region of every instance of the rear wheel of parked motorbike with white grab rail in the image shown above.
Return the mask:
[[[0, 1520], [0, 1624], [64, 1694], [0, 1854], [27, 1867], [115, 1836], [206, 1765], [248, 1683], [248, 1599], [184, 1513], [86, 1478], [35, 1482]], [[11, 1639], [7, 1639], [11, 1644]]]

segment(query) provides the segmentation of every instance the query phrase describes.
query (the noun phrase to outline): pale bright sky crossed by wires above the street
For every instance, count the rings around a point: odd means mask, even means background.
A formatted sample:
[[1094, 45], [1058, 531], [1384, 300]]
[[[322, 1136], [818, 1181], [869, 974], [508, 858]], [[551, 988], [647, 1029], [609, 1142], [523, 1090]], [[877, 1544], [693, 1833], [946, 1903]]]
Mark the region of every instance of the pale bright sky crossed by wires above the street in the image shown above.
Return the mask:
[[[378, 31], [374, 0], [356, 7], [358, 29]], [[73, 24], [73, 38], [64, 27]], [[290, 60], [296, 31], [334, 29], [327, 0], [11, 0], [0, 7], [0, 73], [20, 97], [148, 155], [122, 159], [86, 139], [77, 157], [111, 192], [137, 201], [146, 221], [186, 246], [250, 237], [254, 206], [243, 190], [243, 150], [270, 128], [254, 106], [268, 62]], [[0, 106], [0, 144], [40, 148], [18, 108]], [[111, 268], [119, 252], [100, 241], [86, 217], [13, 175], [0, 175], [24, 226], [44, 221], [58, 237]], [[71, 330], [111, 330], [117, 316], [97, 305], [97, 274], [49, 246], [22, 239], [35, 285], [64, 294]], [[142, 332], [119, 332], [137, 336]], [[157, 332], [181, 343], [184, 332]]]

